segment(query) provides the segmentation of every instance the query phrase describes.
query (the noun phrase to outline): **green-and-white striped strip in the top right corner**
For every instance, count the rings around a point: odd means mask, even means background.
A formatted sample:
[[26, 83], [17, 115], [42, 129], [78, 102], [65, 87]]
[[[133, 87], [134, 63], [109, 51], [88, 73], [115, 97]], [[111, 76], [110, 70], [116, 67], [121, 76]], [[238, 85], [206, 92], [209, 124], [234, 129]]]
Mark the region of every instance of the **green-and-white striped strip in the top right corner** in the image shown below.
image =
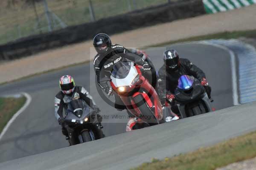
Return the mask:
[[205, 11], [209, 14], [228, 11], [256, 3], [256, 0], [203, 0]]

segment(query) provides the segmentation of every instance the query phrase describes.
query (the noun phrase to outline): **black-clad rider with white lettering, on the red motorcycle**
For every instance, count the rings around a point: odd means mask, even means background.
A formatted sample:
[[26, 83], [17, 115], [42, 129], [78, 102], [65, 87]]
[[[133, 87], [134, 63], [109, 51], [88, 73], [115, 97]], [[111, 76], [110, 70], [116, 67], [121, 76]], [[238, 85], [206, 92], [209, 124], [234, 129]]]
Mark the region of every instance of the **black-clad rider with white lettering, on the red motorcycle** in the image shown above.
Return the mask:
[[[143, 59], [143, 54], [134, 49], [127, 49], [119, 44], [112, 45], [111, 39], [107, 34], [97, 34], [93, 39], [93, 46], [97, 51], [94, 58], [93, 65], [96, 72], [97, 84], [105, 91], [106, 94], [113, 94], [115, 98], [114, 107], [118, 110], [126, 109], [121, 99], [115, 94], [106, 82], [101, 82], [100, 79], [104, 77], [110, 78], [110, 72], [113, 66], [120, 61], [133, 61], [137, 65], [141, 65], [143, 71], [151, 70], [151, 65]], [[121, 103], [121, 104], [120, 104]], [[128, 113], [131, 115], [131, 113]], [[137, 119], [131, 118], [128, 122], [130, 129], [135, 125], [131, 122], [137, 122]]]

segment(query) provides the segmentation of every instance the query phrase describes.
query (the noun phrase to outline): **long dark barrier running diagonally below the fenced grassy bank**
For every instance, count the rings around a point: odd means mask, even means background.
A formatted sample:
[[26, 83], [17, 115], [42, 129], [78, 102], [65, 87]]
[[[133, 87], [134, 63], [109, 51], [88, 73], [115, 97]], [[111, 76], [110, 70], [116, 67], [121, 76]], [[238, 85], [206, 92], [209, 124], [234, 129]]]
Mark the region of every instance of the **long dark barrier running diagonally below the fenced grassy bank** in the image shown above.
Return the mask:
[[177, 3], [166, 3], [0, 45], [0, 60], [17, 59], [47, 49], [90, 40], [100, 32], [115, 34], [201, 14], [205, 14], [202, 0], [180, 0]]

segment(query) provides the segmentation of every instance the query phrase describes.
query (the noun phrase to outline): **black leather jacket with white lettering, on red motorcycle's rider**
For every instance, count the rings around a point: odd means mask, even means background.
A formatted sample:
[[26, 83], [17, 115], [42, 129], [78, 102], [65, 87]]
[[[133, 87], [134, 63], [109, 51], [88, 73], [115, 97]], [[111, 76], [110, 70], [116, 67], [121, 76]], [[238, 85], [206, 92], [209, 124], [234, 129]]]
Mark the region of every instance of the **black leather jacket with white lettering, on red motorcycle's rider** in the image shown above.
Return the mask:
[[142, 55], [137, 53], [137, 50], [127, 49], [119, 44], [111, 45], [110, 53], [106, 55], [97, 54], [94, 57], [93, 66], [97, 76], [97, 83], [101, 88], [105, 88], [107, 83], [100, 83], [103, 77], [110, 77], [113, 66], [119, 61], [131, 60], [138, 65], [145, 63]]

